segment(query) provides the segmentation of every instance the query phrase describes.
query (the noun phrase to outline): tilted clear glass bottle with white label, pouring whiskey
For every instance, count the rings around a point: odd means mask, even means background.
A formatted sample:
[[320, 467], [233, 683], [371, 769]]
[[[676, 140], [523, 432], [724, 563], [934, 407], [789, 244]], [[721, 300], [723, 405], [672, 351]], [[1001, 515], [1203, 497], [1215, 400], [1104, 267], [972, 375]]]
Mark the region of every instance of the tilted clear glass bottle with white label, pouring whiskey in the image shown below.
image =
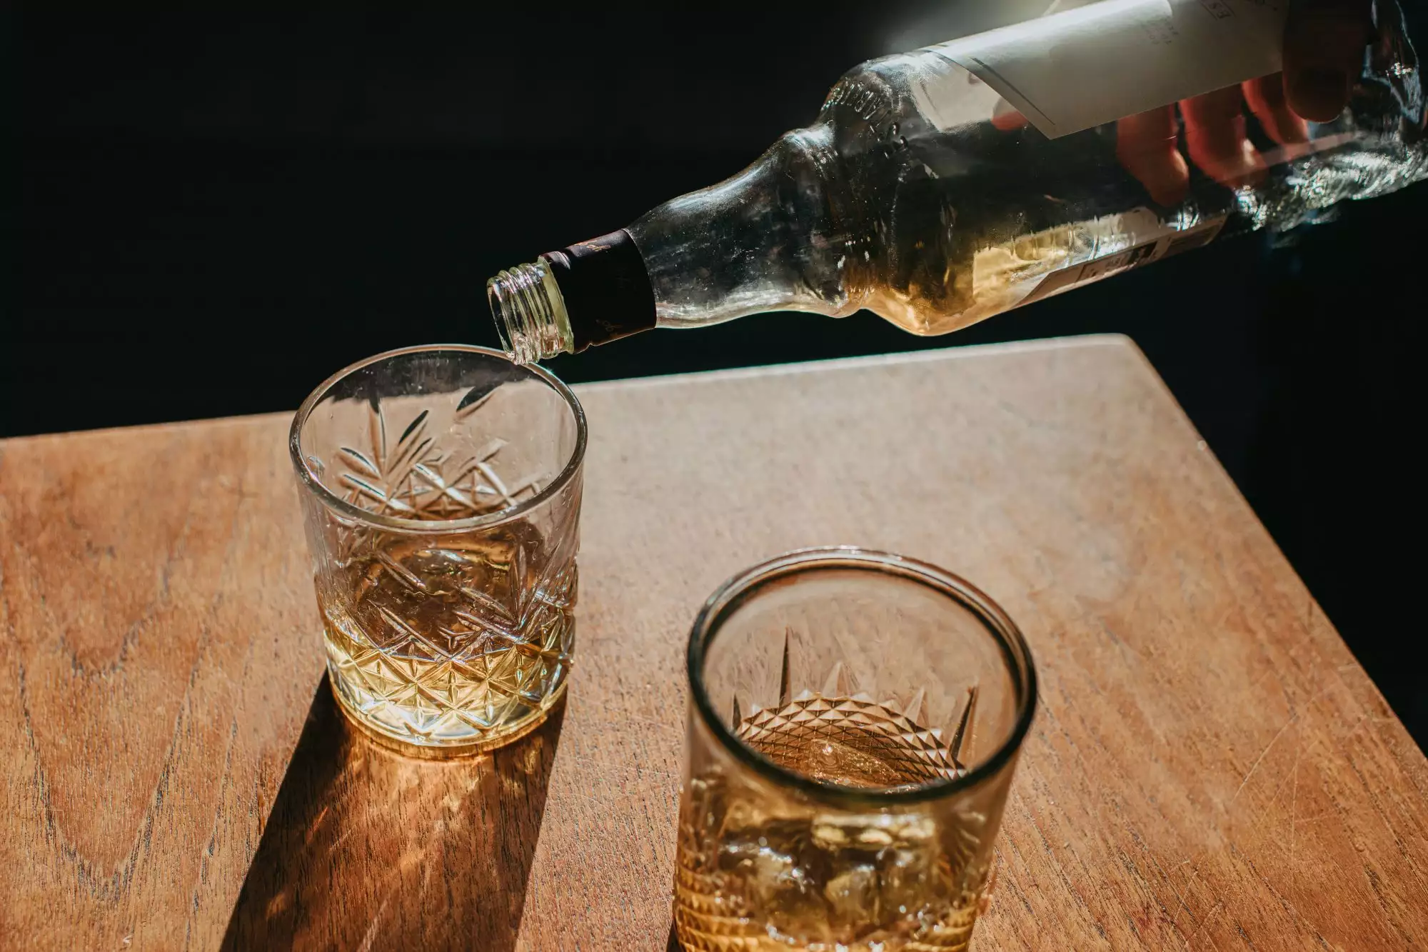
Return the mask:
[[1258, 182], [1192, 170], [1158, 206], [1118, 164], [1114, 119], [1277, 71], [1282, 7], [1102, 0], [864, 63], [737, 176], [493, 277], [506, 350], [531, 362], [770, 310], [868, 309], [942, 334], [1428, 176], [1422, 23], [1395, 0], [1374, 7], [1348, 107], [1265, 150]]

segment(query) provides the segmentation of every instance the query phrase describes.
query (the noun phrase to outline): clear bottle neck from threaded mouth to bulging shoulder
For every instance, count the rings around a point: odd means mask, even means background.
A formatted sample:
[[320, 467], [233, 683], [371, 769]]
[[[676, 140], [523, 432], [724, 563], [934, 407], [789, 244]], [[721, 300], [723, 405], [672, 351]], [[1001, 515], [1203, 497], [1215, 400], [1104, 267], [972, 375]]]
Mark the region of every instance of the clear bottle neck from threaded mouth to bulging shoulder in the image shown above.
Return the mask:
[[834, 212], [838, 169], [827, 124], [791, 132], [733, 179], [501, 272], [487, 297], [507, 353], [527, 363], [655, 326], [853, 313], [868, 242]]

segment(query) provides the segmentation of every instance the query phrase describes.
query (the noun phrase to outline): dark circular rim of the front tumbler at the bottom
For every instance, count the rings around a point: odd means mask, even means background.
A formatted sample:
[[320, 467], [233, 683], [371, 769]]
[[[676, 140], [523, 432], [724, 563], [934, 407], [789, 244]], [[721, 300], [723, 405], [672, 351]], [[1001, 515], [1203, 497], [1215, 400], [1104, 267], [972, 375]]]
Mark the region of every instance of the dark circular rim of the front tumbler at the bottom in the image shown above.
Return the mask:
[[[897, 575], [912, 582], [918, 582], [935, 589], [947, 598], [958, 602], [987, 628], [988, 633], [1001, 648], [1007, 666], [1012, 673], [1012, 683], [1018, 690], [1017, 718], [1011, 733], [985, 760], [954, 779], [931, 780], [911, 789], [878, 789], [854, 788], [827, 783], [804, 776], [780, 766], [774, 760], [755, 752], [748, 745], [738, 740], [733, 730], [724, 725], [714, 712], [714, 703], [704, 689], [703, 666], [705, 648], [727, 620], [728, 615], [743, 605], [744, 599], [755, 593], [760, 587], [775, 579], [795, 575], [808, 569], [845, 567], [855, 570], [875, 570], [887, 575]], [[961, 576], [952, 575], [928, 562], [910, 559], [892, 552], [877, 549], [863, 549], [860, 546], [820, 546], [811, 549], [794, 549], [774, 556], [767, 562], [744, 569], [738, 575], [725, 580], [700, 608], [690, 629], [690, 645], [685, 655], [687, 675], [690, 679], [690, 696], [698, 709], [704, 726], [718, 739], [720, 745], [735, 759], [751, 768], [764, 779], [781, 786], [791, 786], [811, 796], [853, 803], [857, 806], [897, 806], [904, 803], [921, 803], [942, 799], [952, 793], [977, 786], [982, 780], [998, 773], [1002, 766], [1021, 749], [1031, 728], [1032, 715], [1037, 709], [1037, 669], [1031, 659], [1031, 648], [1022, 636], [1021, 629], [1011, 620], [1005, 610], [987, 593], [967, 582]]]

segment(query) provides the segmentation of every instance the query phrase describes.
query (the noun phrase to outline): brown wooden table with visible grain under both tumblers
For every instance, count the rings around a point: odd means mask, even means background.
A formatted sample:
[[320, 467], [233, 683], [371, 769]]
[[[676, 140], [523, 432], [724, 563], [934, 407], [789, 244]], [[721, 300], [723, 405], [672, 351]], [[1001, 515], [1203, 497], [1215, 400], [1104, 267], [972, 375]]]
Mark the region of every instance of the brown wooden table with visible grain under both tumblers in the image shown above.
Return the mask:
[[1428, 943], [1428, 763], [1124, 339], [578, 390], [570, 699], [456, 763], [334, 710], [286, 415], [0, 442], [0, 946], [663, 949], [690, 620], [825, 543], [1035, 653], [974, 948]]

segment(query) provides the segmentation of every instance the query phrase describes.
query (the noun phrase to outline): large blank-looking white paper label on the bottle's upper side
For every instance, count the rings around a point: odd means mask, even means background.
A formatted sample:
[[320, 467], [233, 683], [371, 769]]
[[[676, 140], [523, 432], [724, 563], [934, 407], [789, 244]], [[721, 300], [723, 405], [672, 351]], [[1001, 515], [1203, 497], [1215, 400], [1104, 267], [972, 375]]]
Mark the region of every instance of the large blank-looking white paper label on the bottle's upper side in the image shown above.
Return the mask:
[[[1277, 73], [1287, 7], [1288, 0], [1100, 0], [927, 49], [1055, 139]], [[935, 122], [942, 110], [934, 103], [924, 111]]]

